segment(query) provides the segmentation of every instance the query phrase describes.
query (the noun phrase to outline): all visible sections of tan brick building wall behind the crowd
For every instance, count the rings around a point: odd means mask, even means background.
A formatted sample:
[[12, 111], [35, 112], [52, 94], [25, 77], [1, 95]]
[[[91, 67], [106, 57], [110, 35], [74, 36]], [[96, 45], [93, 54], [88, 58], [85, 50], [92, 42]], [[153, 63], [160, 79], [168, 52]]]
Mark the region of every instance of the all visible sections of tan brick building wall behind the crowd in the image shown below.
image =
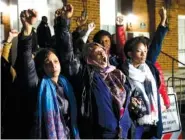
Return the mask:
[[[129, 1], [129, 3], [126, 3]], [[178, 3], [177, 3], [178, 2]], [[74, 16], [72, 18], [71, 31], [76, 28], [76, 18], [81, 15], [83, 10], [81, 0], [68, 0], [74, 6]], [[164, 0], [125, 0], [122, 1], [122, 5], [129, 5], [129, 8], [122, 9], [123, 14], [127, 14], [130, 10], [136, 16], [138, 16], [137, 23], [133, 25], [133, 31], [144, 31], [149, 33], [154, 33], [157, 25], [160, 22], [158, 11], [159, 8], [164, 6]], [[124, 8], [124, 6], [122, 8]], [[126, 7], [126, 6], [125, 6]], [[100, 0], [87, 0], [87, 12], [88, 12], [88, 23], [94, 21], [96, 24], [96, 29], [90, 36], [90, 39], [94, 34], [100, 29]], [[185, 0], [172, 0], [170, 9], [168, 9], [169, 16], [169, 27], [170, 31], [167, 33], [165, 40], [163, 42], [163, 51], [169, 55], [172, 55], [178, 59], [178, 15], [185, 15]], [[9, 31], [9, 18], [5, 19], [6, 30]], [[146, 28], [141, 29], [140, 23], [146, 23]], [[6, 36], [7, 36], [6, 32]], [[160, 54], [159, 63], [163, 70], [171, 70], [171, 59], [167, 56]], [[178, 69], [178, 64], [175, 63], [175, 68]]]

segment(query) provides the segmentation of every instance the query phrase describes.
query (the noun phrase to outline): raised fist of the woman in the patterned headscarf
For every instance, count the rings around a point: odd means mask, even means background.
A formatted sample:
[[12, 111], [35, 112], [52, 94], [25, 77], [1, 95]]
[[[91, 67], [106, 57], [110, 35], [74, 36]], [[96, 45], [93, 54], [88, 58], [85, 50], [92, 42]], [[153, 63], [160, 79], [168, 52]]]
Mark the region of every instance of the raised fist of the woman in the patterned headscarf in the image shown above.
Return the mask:
[[55, 17], [71, 18], [73, 16], [74, 8], [71, 4], [67, 4], [62, 9], [57, 9], [55, 11]]

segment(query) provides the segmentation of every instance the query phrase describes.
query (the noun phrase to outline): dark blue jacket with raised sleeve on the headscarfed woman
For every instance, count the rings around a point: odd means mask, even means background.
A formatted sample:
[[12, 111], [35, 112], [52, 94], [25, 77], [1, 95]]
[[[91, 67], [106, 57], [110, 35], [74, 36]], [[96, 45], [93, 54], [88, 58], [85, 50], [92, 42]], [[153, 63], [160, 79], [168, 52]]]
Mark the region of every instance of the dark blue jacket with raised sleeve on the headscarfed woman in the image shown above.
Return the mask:
[[[124, 116], [120, 119], [110, 91], [100, 75], [87, 66], [78, 54], [75, 54], [68, 25], [68, 20], [60, 17], [57, 19], [56, 50], [60, 54], [59, 60], [63, 73], [72, 83], [76, 93], [80, 137], [118, 138], [119, 127], [121, 127], [121, 137], [127, 138], [131, 123], [127, 106]], [[129, 96], [127, 99], [129, 101]]]

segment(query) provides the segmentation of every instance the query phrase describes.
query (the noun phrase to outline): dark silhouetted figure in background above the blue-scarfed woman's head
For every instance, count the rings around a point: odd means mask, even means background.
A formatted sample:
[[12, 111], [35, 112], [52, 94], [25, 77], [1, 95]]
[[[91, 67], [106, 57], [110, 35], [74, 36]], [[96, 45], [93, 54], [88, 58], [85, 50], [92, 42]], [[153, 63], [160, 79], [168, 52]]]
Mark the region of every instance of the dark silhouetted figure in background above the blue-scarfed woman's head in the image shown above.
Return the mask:
[[42, 16], [42, 20], [37, 27], [37, 40], [40, 48], [51, 47], [51, 31], [46, 16]]

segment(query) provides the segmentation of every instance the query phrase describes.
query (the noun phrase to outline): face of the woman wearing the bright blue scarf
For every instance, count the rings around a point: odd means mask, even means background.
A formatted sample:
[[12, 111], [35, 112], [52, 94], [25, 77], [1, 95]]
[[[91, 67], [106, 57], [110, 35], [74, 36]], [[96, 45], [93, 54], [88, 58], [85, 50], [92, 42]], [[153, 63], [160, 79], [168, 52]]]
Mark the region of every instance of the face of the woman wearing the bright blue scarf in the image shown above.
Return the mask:
[[50, 52], [44, 61], [44, 72], [47, 76], [56, 78], [59, 76], [60, 70], [61, 67], [58, 57], [54, 53]]

